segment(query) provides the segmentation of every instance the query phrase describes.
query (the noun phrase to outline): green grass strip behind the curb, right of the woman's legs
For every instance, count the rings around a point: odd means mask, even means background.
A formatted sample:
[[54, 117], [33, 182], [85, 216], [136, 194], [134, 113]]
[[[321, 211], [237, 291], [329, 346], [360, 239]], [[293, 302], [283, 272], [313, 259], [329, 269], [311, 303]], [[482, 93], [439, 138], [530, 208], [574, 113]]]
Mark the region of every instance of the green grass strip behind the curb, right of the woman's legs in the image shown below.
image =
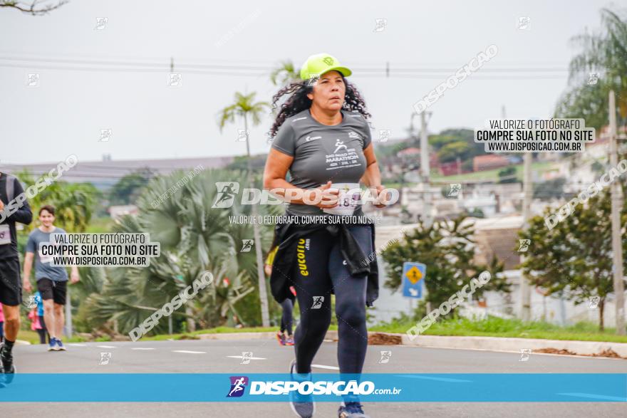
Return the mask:
[[[406, 333], [415, 321], [403, 318], [369, 328], [369, 331]], [[576, 323], [567, 327], [541, 321], [524, 323], [518, 319], [488, 317], [485, 320], [451, 318], [433, 324], [424, 335], [459, 335], [476, 337], [540, 338], [545, 340], [580, 340], [627, 343], [627, 336], [616, 335], [615, 328], [602, 332], [593, 323]]]

